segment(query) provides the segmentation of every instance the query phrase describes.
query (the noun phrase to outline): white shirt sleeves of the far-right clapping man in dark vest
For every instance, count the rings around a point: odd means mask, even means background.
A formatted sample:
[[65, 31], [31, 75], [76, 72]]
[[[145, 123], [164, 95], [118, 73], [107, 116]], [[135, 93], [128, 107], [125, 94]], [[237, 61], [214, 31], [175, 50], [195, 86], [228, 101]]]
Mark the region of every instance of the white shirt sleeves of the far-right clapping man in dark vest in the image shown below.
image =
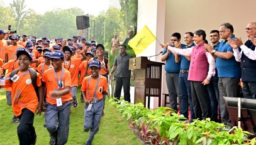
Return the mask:
[[251, 60], [256, 60], [256, 48], [254, 51], [245, 45], [241, 45], [240, 48], [241, 48], [241, 52], [238, 49], [237, 50], [233, 49], [234, 51], [233, 55], [235, 56], [235, 60], [237, 60], [237, 62], [241, 62], [242, 53], [248, 58], [250, 58]]

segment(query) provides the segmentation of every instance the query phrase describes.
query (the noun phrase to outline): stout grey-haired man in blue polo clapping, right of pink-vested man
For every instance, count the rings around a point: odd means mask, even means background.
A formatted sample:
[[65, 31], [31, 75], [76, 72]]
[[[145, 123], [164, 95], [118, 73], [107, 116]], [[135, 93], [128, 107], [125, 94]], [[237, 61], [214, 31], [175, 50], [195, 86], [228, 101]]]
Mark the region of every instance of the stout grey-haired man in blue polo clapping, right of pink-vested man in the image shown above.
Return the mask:
[[220, 91], [221, 122], [231, 126], [228, 109], [226, 108], [224, 96], [238, 97], [238, 83], [241, 78], [240, 63], [236, 62], [233, 56], [233, 49], [228, 44], [228, 38], [235, 38], [233, 26], [230, 23], [223, 23], [220, 26], [220, 42], [218, 50], [206, 45], [207, 50], [216, 57], [216, 68], [218, 70], [218, 88]]

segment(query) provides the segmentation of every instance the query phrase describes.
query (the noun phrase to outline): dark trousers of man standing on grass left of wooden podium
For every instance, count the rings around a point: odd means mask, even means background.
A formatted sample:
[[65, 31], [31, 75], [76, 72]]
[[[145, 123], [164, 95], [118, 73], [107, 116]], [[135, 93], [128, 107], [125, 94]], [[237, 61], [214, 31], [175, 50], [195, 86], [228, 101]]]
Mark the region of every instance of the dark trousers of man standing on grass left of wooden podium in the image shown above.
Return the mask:
[[130, 97], [130, 80], [131, 77], [114, 77], [114, 97], [116, 99], [120, 99], [121, 90], [123, 87], [124, 97], [125, 100], [131, 102]]

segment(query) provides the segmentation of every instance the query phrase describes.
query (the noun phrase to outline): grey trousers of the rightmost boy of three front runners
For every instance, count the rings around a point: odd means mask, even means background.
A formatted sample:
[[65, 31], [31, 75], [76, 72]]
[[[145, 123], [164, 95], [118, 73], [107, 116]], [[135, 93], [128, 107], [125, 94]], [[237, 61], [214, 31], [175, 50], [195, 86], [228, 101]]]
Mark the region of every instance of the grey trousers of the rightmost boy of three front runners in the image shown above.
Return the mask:
[[89, 136], [87, 137], [86, 144], [92, 144], [92, 140], [95, 134], [99, 131], [99, 121], [101, 121], [101, 115], [103, 113], [104, 100], [101, 99], [92, 104], [91, 110], [87, 110], [89, 105], [84, 107], [84, 130], [90, 129]]

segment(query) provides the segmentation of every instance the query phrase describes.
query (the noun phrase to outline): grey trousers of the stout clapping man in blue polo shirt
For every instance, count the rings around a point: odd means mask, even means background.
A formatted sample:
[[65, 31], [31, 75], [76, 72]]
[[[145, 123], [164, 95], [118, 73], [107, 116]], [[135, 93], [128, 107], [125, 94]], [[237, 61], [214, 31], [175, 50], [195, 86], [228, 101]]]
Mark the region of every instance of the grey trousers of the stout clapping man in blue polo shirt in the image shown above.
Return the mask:
[[238, 97], [238, 83], [239, 78], [219, 78], [218, 88], [220, 91], [220, 114], [221, 122], [224, 124], [231, 124], [228, 109], [226, 108], [223, 97]]

